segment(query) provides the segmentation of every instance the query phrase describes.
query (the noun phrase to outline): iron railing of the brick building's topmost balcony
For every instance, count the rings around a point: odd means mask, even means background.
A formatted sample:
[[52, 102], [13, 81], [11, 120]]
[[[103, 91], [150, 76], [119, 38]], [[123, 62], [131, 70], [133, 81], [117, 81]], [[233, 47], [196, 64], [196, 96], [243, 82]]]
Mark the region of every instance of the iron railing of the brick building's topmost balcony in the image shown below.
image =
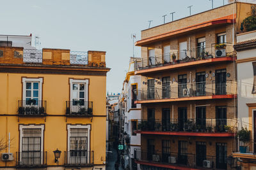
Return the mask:
[[[172, 50], [170, 53], [149, 56], [141, 59], [141, 62], [135, 64], [136, 70], [148, 69], [150, 67], [160, 67], [170, 64], [179, 64], [182, 62], [191, 62], [195, 60], [204, 60], [218, 57], [233, 57], [235, 51], [231, 43], [225, 45], [211, 44], [206, 46], [196, 46], [190, 50]], [[136, 62], [135, 62], [136, 63]]]

